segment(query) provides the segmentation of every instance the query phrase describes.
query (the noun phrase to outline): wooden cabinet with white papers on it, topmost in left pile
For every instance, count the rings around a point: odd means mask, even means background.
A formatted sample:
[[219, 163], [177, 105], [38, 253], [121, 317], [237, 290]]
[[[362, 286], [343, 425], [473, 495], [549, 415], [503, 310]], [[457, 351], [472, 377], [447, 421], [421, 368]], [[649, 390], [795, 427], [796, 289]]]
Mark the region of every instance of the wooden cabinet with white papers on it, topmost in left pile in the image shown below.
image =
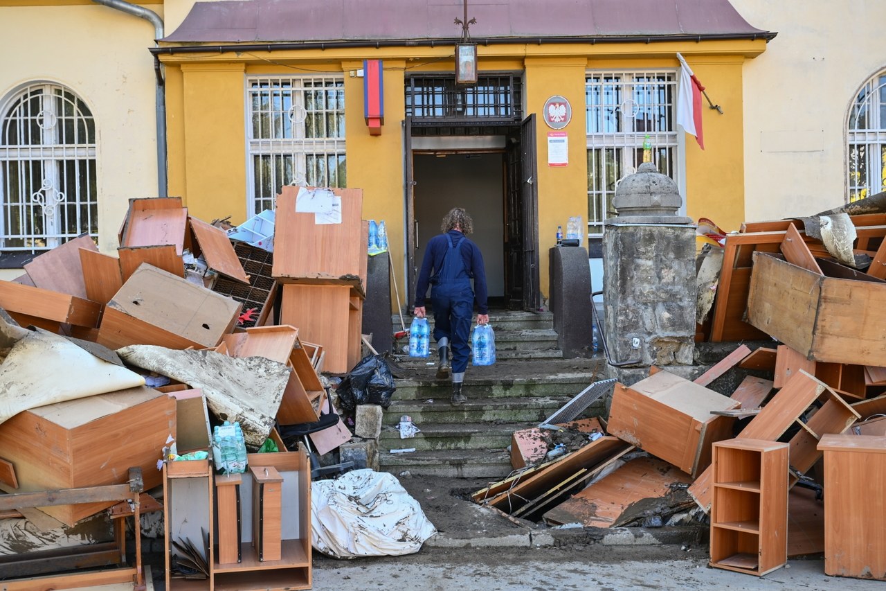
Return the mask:
[[340, 224], [317, 224], [314, 213], [299, 212], [298, 195], [303, 190], [313, 188], [284, 185], [277, 195], [274, 278], [284, 283], [338, 283], [362, 290], [366, 241], [362, 240], [361, 189], [331, 189], [341, 201]]

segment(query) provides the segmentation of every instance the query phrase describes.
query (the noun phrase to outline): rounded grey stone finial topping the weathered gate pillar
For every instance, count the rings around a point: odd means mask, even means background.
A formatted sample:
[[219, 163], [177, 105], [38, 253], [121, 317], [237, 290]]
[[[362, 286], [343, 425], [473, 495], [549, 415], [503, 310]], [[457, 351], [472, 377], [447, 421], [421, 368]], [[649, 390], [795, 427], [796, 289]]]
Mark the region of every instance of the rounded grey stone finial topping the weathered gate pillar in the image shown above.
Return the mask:
[[683, 199], [671, 177], [658, 172], [652, 162], [643, 162], [637, 171], [618, 184], [612, 206], [618, 216], [613, 224], [692, 224], [689, 217], [677, 216]]

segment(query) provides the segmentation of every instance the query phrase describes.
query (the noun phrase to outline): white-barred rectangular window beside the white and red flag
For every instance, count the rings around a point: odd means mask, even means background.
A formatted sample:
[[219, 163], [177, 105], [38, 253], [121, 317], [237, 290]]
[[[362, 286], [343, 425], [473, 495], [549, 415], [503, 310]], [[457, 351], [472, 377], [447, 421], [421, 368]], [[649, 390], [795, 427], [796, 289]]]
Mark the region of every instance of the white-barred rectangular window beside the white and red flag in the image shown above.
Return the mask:
[[649, 136], [659, 172], [675, 181], [677, 162], [676, 75], [673, 72], [589, 72], [587, 114], [587, 232], [600, 238], [622, 178], [643, 162]]

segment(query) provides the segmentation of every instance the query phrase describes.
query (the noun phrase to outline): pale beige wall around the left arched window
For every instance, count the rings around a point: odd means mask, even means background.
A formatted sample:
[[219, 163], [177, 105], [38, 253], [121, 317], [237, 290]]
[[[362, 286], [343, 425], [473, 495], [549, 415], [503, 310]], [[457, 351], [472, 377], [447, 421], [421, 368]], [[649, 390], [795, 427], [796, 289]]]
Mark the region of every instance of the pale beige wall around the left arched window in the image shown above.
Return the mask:
[[[150, 8], [162, 12], [159, 4]], [[5, 6], [0, 36], [6, 48], [0, 98], [25, 83], [49, 81], [65, 85], [91, 109], [98, 244], [116, 252], [128, 199], [158, 193], [152, 24], [97, 4]]]

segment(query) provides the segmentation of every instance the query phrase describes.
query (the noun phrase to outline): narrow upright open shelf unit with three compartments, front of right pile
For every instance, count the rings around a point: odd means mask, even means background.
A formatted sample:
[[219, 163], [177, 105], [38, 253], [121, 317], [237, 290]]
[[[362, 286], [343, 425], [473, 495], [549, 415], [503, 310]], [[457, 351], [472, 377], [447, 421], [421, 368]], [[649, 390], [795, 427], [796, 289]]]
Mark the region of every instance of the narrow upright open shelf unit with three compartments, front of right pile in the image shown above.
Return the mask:
[[759, 576], [787, 562], [788, 449], [759, 439], [713, 445], [711, 566]]

